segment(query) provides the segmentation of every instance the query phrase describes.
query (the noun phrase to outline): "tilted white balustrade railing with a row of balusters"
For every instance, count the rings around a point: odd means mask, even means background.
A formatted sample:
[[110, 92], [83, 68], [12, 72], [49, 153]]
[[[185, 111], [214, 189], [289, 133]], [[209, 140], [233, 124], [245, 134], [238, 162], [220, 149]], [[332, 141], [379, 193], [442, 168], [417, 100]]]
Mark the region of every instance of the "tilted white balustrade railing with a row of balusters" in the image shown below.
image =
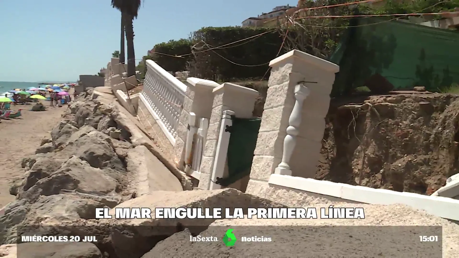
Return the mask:
[[[146, 66], [142, 95], [162, 123], [164, 133], [172, 136], [168, 139], [175, 139], [187, 86], [154, 61], [146, 60]], [[175, 140], [171, 143], [174, 145]]]

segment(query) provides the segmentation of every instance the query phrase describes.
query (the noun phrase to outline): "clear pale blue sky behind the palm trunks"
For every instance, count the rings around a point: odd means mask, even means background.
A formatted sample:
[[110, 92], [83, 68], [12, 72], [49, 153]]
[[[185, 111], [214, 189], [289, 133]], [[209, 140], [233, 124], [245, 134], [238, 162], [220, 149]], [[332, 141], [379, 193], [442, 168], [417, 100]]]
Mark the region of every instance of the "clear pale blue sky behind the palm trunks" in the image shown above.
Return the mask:
[[[0, 81], [75, 81], [119, 50], [120, 12], [110, 0], [1, 0]], [[134, 20], [136, 58], [207, 26], [240, 25], [297, 0], [145, 0]]]

